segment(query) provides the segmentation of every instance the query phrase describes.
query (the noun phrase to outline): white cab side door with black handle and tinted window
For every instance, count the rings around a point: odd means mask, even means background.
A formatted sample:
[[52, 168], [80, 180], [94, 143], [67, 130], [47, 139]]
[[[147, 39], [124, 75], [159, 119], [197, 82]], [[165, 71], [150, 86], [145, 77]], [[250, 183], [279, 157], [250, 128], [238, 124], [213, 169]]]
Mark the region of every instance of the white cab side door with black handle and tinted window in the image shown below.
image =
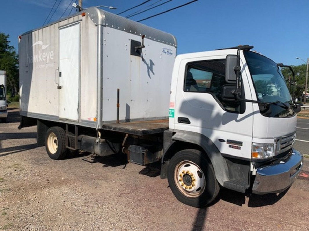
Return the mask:
[[[226, 55], [181, 61], [175, 102], [175, 129], [209, 138], [222, 154], [251, 157], [252, 103], [226, 101], [221, 97], [225, 82]], [[251, 98], [243, 72], [243, 92]]]

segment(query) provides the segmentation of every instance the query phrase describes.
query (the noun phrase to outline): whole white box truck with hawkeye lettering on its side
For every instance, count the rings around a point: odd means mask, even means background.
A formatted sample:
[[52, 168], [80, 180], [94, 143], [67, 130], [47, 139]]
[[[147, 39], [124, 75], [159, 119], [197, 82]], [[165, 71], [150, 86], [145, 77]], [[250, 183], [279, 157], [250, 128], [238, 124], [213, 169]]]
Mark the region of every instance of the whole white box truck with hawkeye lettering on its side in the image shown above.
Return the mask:
[[[279, 193], [297, 178], [299, 105], [277, 64], [240, 46], [178, 55], [173, 35], [90, 7], [19, 36], [19, 128], [68, 150], [161, 161], [176, 198]], [[283, 126], [284, 125], [284, 126]]]

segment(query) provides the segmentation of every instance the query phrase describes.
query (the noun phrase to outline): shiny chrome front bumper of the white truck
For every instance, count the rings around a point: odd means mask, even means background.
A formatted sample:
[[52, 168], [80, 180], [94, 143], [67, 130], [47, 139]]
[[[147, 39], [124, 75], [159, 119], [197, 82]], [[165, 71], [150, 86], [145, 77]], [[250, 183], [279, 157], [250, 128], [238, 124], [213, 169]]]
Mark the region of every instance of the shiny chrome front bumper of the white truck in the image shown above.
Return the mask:
[[303, 155], [292, 149], [288, 159], [256, 169], [252, 193], [281, 193], [297, 179], [303, 167]]

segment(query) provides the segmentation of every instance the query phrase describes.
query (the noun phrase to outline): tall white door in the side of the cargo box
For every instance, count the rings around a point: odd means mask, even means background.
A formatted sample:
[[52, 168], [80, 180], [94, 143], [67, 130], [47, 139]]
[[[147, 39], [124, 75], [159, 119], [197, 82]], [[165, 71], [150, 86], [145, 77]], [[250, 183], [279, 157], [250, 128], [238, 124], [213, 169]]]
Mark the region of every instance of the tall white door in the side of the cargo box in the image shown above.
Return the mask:
[[59, 118], [78, 120], [79, 23], [59, 28]]

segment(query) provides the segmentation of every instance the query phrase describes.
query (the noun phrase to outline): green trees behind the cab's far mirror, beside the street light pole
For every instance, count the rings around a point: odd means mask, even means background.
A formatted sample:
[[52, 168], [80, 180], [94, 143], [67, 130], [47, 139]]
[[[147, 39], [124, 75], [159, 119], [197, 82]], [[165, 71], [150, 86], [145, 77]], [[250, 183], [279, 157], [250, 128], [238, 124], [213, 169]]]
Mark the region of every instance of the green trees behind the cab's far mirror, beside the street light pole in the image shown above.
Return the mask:
[[[303, 94], [303, 91], [305, 90], [305, 82], [306, 82], [306, 64], [298, 65], [298, 66], [292, 66], [294, 72], [295, 72], [295, 96], [300, 97]], [[284, 79], [286, 80], [286, 84], [289, 87], [289, 79], [290, 83], [293, 81], [293, 75], [288, 67], [283, 67], [281, 69], [281, 72], [284, 76]], [[292, 87], [290, 87], [290, 93], [292, 95]]]

